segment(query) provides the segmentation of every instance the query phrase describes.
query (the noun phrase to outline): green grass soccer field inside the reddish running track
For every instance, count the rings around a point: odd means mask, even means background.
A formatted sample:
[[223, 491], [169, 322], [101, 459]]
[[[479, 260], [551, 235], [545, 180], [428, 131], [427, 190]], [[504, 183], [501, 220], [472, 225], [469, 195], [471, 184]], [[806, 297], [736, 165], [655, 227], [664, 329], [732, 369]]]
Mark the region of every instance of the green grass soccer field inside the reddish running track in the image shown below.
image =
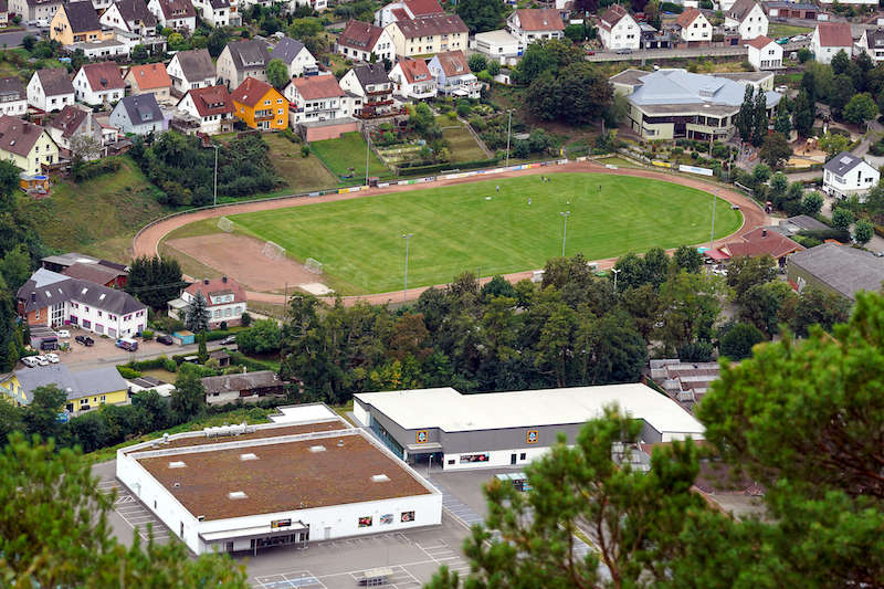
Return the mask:
[[[499, 192], [497, 187], [499, 186]], [[415, 187], [417, 188], [417, 187]], [[232, 215], [238, 230], [273, 241], [297, 260], [324, 264], [320, 280], [343, 294], [543, 267], [561, 255], [589, 260], [675, 248], [709, 239], [712, 196], [630, 176], [552, 173], [325, 202]], [[739, 211], [718, 199], [716, 238], [736, 231]]]

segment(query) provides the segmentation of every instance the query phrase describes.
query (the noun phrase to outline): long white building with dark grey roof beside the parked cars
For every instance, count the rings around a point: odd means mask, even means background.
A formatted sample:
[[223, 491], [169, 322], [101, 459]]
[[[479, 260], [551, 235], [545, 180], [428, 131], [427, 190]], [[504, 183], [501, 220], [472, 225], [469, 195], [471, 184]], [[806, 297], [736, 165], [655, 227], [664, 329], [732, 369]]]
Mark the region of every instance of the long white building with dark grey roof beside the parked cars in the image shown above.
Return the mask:
[[17, 301], [28, 325], [77, 325], [110, 338], [131, 337], [147, 326], [147, 307], [130, 294], [45, 269], [19, 288]]

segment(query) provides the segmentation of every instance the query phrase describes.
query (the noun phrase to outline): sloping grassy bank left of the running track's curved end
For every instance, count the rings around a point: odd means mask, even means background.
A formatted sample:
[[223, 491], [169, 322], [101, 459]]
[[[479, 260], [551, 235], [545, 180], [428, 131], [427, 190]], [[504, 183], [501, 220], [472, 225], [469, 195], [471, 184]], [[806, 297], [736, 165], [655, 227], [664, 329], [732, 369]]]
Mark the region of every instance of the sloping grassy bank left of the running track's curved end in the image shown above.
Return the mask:
[[118, 262], [130, 259], [133, 235], [168, 211], [135, 162], [128, 157], [122, 162], [118, 171], [80, 185], [59, 182], [46, 199], [20, 197], [46, 245]]

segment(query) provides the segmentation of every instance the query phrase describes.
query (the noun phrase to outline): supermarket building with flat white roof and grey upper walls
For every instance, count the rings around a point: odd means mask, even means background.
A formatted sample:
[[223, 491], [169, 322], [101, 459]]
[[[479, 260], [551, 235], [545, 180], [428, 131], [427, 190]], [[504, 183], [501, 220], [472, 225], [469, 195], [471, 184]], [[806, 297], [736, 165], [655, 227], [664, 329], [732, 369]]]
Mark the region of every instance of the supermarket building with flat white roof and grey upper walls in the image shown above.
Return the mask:
[[642, 383], [461, 395], [452, 388], [354, 396], [356, 419], [408, 463], [444, 470], [518, 466], [565, 433], [618, 404], [642, 422], [641, 441], [703, 439], [704, 428], [669, 397]]

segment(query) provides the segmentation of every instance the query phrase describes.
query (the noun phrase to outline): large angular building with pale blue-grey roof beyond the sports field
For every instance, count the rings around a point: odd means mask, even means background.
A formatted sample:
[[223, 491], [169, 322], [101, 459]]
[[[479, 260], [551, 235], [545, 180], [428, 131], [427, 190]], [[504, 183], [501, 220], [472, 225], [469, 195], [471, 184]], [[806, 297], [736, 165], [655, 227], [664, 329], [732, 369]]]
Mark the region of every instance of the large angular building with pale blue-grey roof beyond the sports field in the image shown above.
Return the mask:
[[[734, 135], [746, 84], [764, 88], [772, 73], [692, 74], [685, 70], [625, 70], [610, 78], [629, 101], [630, 128], [646, 139], [727, 140]], [[782, 96], [766, 91], [771, 116]]]

